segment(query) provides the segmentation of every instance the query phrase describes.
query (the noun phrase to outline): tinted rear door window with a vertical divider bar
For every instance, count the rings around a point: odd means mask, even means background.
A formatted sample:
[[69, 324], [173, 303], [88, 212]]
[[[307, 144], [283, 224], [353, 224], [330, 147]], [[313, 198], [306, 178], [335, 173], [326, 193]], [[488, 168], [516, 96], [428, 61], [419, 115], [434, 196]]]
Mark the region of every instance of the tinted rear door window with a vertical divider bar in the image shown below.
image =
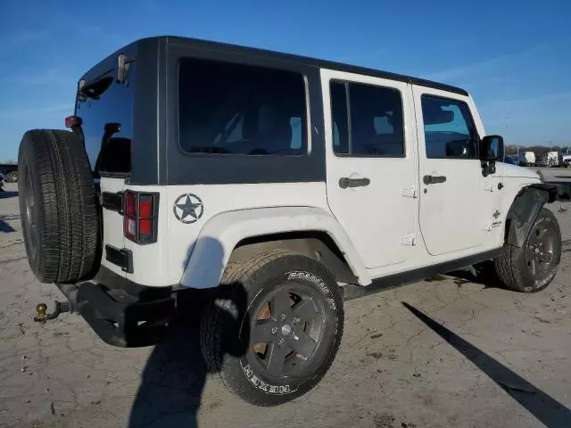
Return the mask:
[[[332, 83], [331, 112], [335, 152], [355, 156], [404, 155], [399, 91], [355, 83]], [[348, 121], [351, 127], [347, 126]]]

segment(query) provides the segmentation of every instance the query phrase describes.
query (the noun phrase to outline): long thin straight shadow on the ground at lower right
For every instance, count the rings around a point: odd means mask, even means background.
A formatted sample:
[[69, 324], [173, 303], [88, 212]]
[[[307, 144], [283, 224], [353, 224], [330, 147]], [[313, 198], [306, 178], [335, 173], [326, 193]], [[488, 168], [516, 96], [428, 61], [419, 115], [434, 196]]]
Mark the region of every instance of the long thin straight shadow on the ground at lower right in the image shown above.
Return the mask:
[[525, 407], [542, 424], [545, 424], [548, 428], [569, 426], [571, 410], [559, 403], [557, 399], [553, 399], [550, 395], [502, 365], [497, 359], [490, 357], [483, 350], [465, 341], [458, 334], [452, 333], [442, 324], [434, 321], [434, 319], [410, 306], [410, 304], [402, 302], [402, 305], [431, 328], [434, 333], [438, 334], [444, 341], [458, 350], [459, 353], [468, 358], [484, 374], [487, 374], [494, 383]]

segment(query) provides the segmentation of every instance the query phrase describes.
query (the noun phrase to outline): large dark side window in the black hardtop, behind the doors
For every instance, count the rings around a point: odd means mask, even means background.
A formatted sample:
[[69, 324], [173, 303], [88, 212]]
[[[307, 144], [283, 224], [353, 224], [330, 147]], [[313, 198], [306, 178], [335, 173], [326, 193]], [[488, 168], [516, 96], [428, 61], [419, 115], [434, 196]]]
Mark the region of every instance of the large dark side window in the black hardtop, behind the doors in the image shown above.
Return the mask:
[[300, 74], [184, 60], [178, 91], [179, 139], [187, 152], [307, 152], [305, 83]]

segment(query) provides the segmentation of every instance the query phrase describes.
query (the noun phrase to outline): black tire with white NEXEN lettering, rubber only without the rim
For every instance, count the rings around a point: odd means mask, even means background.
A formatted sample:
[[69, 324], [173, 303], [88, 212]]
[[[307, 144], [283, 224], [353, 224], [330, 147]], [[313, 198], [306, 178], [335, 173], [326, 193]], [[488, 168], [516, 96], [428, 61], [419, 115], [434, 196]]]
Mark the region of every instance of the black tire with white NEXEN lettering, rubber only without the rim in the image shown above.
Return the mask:
[[[290, 279], [292, 278], [292, 279]], [[303, 373], [277, 379], [252, 363], [249, 336], [251, 311], [274, 287], [314, 287], [327, 302], [324, 340]], [[285, 285], [283, 285], [285, 284]], [[285, 288], [287, 289], [287, 288]], [[319, 299], [319, 297], [318, 297]], [[295, 308], [295, 307], [294, 307]], [[220, 286], [203, 313], [201, 348], [210, 372], [228, 390], [257, 406], [276, 406], [310, 391], [333, 363], [343, 335], [343, 300], [334, 277], [315, 259], [285, 250], [266, 250], [228, 263]]]

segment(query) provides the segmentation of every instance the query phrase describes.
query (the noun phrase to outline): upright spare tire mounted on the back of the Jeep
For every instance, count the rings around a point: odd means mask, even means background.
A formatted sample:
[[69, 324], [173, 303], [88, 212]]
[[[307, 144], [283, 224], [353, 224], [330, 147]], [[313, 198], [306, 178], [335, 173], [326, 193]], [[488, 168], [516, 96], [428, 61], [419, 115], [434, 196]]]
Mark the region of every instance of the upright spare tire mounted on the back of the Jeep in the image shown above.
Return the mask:
[[43, 283], [74, 283], [95, 268], [98, 218], [93, 175], [71, 132], [34, 129], [18, 153], [21, 226], [29, 266]]

